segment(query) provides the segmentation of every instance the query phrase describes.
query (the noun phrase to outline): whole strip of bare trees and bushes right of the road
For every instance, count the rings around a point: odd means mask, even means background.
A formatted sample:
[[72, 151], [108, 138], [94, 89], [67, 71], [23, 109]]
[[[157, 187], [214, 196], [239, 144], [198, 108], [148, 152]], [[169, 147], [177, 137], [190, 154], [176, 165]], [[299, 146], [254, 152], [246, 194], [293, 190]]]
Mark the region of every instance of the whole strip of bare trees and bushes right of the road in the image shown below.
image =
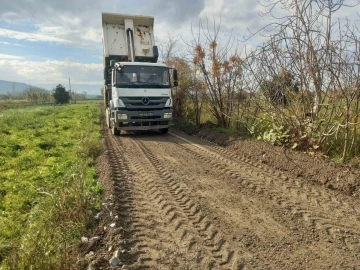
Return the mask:
[[248, 33], [248, 39], [260, 34], [264, 40], [256, 48], [242, 47], [235, 37], [221, 39], [216, 21], [200, 22], [187, 51], [175, 50], [178, 40], [171, 36], [161, 44], [163, 59], [181, 74], [174, 115], [195, 126], [210, 120], [221, 132], [358, 163], [360, 25], [338, 15], [359, 5], [261, 2], [268, 10], [261, 16], [273, 23]]

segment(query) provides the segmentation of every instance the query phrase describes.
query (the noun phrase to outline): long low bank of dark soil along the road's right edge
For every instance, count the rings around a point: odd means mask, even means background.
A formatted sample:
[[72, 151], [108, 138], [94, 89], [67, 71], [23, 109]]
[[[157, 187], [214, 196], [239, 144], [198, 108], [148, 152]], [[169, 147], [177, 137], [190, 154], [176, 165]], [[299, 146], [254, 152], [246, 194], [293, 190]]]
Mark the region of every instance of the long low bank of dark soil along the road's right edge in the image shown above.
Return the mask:
[[[186, 133], [186, 130], [183, 129], [182, 131]], [[312, 181], [328, 189], [360, 197], [360, 170], [354, 169], [350, 165], [338, 164], [320, 156], [310, 156], [306, 153], [273, 146], [261, 141], [252, 141], [219, 133], [213, 127], [208, 126], [203, 126], [192, 135], [225, 146], [238, 155], [245, 156], [255, 162], [267, 164], [274, 169], [303, 178], [304, 181]]]

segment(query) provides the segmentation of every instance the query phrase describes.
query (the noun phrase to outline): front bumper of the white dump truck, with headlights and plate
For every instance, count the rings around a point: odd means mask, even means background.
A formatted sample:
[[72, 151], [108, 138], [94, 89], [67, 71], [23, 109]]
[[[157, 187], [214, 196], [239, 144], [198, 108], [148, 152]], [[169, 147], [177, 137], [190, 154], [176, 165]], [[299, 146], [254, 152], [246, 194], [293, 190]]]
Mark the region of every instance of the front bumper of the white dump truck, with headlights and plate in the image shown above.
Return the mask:
[[172, 109], [153, 111], [112, 110], [110, 121], [119, 130], [164, 129], [173, 124]]

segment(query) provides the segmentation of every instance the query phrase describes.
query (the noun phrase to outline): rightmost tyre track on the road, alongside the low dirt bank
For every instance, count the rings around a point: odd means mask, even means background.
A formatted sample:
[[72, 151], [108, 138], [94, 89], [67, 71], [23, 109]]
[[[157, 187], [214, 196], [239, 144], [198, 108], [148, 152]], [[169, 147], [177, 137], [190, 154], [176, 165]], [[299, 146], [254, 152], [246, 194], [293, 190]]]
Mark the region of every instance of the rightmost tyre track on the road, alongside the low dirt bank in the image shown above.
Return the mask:
[[[220, 147], [208, 146], [211, 149], [208, 150], [181, 136], [171, 135], [174, 137], [168, 137], [170, 142], [203, 162], [213, 165], [250, 192], [271, 194], [272, 201], [290, 211], [293, 216], [301, 217], [311, 228], [321, 230], [331, 238], [329, 241], [334, 241], [339, 246], [345, 246], [352, 251], [360, 250], [360, 219], [355, 207], [349, 206], [348, 203], [325, 191], [318, 191], [316, 187], [305, 185], [283, 173], [257, 165], [245, 157], [239, 158], [236, 154]], [[188, 144], [181, 144], [176, 138]], [[354, 217], [349, 219], [348, 217], [352, 215]], [[345, 216], [347, 216], [346, 222], [344, 222]]]

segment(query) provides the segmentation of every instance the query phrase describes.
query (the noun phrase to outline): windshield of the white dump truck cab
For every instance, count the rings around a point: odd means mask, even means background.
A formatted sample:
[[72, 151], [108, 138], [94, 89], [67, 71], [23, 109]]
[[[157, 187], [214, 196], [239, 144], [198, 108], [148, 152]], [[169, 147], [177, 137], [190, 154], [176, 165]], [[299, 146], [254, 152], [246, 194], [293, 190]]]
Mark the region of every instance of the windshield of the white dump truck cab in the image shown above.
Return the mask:
[[169, 88], [169, 70], [166, 67], [123, 66], [117, 72], [119, 88]]

